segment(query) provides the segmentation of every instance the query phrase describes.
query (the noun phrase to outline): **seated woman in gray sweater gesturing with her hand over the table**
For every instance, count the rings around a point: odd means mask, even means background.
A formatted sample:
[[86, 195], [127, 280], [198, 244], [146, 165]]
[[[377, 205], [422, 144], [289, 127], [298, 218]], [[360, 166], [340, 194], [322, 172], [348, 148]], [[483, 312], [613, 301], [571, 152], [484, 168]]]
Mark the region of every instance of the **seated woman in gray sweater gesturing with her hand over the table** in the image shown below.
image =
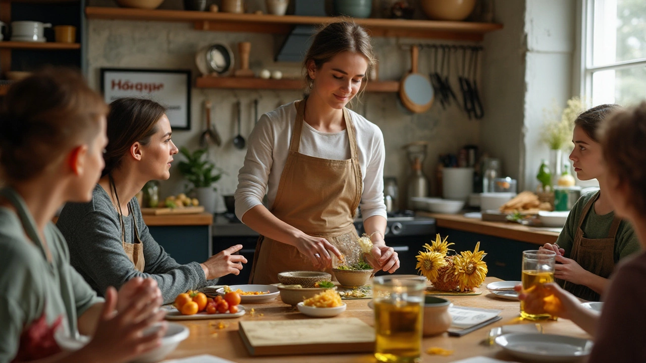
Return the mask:
[[171, 141], [165, 109], [149, 99], [121, 98], [110, 104], [105, 169], [89, 203], [67, 203], [57, 227], [70, 262], [102, 295], [134, 277], [157, 281], [164, 303], [189, 289], [205, 287], [229, 273], [238, 275], [244, 256], [235, 245], [202, 264], [180, 265], [152, 238], [134, 196], [150, 180], [166, 180], [178, 149]]

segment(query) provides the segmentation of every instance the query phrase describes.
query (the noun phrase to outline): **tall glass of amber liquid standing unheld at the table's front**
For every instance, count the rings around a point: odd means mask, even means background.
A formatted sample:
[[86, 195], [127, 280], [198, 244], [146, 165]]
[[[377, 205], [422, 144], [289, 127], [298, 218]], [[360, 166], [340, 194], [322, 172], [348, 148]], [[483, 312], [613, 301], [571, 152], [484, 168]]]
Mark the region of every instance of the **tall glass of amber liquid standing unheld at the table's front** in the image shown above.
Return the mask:
[[372, 292], [375, 307], [375, 358], [386, 363], [421, 361], [422, 313], [426, 278], [377, 276]]

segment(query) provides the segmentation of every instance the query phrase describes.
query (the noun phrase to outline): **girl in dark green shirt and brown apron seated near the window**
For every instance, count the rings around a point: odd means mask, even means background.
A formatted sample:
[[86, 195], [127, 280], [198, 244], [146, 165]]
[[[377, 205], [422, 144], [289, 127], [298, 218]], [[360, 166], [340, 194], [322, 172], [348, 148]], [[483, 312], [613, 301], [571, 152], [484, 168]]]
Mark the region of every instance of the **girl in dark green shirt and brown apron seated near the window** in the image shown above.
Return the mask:
[[574, 121], [570, 160], [579, 180], [598, 180], [599, 191], [583, 194], [570, 211], [556, 244], [541, 247], [557, 254], [554, 278], [559, 285], [589, 301], [600, 300], [619, 260], [641, 249], [630, 223], [614, 214], [596, 136], [602, 121], [618, 110], [618, 105], [599, 105]]

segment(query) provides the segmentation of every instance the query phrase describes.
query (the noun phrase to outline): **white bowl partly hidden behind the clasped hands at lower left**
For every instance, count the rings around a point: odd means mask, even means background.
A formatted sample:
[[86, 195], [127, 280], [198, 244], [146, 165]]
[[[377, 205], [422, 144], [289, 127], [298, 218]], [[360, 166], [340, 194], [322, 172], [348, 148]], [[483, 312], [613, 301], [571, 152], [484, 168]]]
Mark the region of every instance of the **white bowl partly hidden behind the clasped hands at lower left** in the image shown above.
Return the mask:
[[[161, 338], [161, 345], [152, 349], [148, 353], [132, 360], [132, 363], [152, 363], [158, 362], [165, 358], [169, 353], [189, 337], [189, 329], [182, 324], [167, 322], [168, 329], [166, 334]], [[160, 329], [160, 324], [155, 324], [144, 330], [144, 335], [149, 335]], [[81, 335], [79, 338], [72, 338], [67, 335], [65, 329], [57, 329], [54, 333], [54, 339], [63, 351], [77, 351], [90, 341], [89, 337]]]

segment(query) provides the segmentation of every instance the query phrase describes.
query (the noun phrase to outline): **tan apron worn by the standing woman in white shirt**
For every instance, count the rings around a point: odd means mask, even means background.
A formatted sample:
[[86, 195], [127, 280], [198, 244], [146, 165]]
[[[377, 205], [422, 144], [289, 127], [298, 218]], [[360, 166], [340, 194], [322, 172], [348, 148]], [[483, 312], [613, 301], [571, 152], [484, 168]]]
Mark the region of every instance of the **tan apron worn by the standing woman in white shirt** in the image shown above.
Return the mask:
[[[300, 154], [305, 104], [306, 101], [296, 104], [297, 116], [289, 154], [270, 211], [276, 218], [309, 236], [325, 238], [346, 256], [346, 260], [358, 260], [362, 254], [353, 220], [361, 199], [362, 177], [355, 127], [344, 108], [343, 118], [350, 143], [349, 160]], [[315, 271], [316, 268], [296, 247], [260, 236], [249, 282], [275, 284], [278, 273], [289, 270]]]

